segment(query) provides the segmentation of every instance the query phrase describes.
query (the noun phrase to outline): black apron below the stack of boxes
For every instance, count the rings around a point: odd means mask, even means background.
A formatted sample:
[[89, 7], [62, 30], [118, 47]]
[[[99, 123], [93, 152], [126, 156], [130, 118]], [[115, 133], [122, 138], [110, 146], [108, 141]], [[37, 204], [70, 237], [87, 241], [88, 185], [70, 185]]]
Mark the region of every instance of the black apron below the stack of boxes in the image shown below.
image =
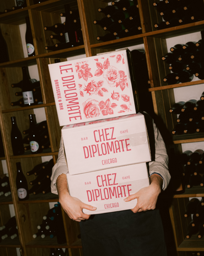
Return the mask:
[[167, 256], [158, 209], [91, 215], [80, 229], [84, 256]]

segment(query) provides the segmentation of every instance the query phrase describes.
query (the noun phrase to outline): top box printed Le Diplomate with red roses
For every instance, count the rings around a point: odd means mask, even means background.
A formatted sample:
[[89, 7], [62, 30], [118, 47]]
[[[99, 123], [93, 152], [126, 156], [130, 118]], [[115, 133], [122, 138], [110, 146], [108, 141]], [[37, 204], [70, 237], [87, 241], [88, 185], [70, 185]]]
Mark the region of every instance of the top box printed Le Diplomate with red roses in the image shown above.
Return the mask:
[[60, 126], [139, 110], [128, 49], [48, 66]]

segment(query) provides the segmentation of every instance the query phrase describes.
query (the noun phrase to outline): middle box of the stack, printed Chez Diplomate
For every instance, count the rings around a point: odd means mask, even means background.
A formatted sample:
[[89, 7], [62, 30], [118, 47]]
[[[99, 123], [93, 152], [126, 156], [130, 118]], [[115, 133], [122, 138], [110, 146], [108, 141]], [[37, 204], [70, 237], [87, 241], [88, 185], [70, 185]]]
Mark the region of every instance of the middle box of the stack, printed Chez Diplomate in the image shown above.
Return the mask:
[[151, 161], [141, 113], [67, 125], [62, 138], [70, 175]]

